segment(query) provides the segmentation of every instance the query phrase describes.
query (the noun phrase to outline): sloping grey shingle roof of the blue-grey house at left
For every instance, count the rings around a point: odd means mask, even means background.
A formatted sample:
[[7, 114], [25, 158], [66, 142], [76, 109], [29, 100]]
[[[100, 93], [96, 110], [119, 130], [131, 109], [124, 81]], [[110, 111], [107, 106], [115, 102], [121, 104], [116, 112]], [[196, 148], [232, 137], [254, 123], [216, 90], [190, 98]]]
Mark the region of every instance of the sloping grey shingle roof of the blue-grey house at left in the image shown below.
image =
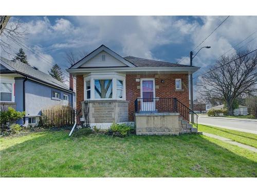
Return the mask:
[[[59, 87], [62, 90], [72, 92], [69, 90], [69, 86], [66, 84], [52, 78], [50, 75], [43, 73], [39, 70], [36, 70], [35, 68], [29, 66], [28, 64], [25, 64], [20, 61], [10, 61], [6, 58], [1, 57], [0, 64], [3, 65], [5, 68], [7, 68], [9, 71], [21, 74], [23, 76], [28, 76], [32, 79], [35, 79], [42, 83], [48, 83], [53, 86]], [[1, 72], [4, 73], [4, 72]], [[74, 93], [74, 92], [72, 92]]]

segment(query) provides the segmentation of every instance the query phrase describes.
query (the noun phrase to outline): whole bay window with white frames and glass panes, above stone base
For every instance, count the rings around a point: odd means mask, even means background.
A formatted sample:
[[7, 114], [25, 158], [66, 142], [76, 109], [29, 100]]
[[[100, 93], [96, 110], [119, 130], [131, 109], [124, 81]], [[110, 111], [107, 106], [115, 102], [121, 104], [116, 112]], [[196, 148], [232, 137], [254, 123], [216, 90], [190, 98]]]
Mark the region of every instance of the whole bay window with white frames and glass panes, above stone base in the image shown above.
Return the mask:
[[125, 100], [125, 75], [90, 73], [84, 76], [85, 100]]

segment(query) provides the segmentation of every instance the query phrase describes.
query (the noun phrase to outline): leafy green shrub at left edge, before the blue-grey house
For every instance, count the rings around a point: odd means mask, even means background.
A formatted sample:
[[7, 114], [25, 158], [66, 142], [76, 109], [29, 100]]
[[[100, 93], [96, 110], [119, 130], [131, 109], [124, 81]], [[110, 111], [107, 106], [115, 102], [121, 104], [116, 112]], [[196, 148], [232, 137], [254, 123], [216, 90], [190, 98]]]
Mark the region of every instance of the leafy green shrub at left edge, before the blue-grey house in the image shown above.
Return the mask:
[[6, 125], [7, 122], [13, 122], [17, 119], [23, 118], [25, 112], [15, 111], [13, 108], [8, 107], [8, 111], [0, 112], [0, 124]]

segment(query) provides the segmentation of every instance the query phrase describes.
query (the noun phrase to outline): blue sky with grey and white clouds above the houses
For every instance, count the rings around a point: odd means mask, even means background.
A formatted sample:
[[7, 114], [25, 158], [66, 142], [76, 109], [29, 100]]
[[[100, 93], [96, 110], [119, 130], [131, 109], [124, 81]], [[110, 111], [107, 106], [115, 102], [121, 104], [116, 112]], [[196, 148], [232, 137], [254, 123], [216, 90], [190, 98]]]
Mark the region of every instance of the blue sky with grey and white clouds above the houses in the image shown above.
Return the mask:
[[[24, 48], [29, 63], [47, 72], [50, 63], [66, 69], [65, 52], [90, 52], [106, 45], [121, 56], [189, 64], [189, 52], [201, 43], [227, 16], [13, 16], [28, 34], [22, 40], [39, 55]], [[193, 60], [205, 72], [219, 56], [230, 50], [257, 47], [257, 16], [230, 16], [201, 46]], [[250, 36], [252, 34], [252, 36]], [[245, 38], [248, 39], [243, 41]], [[241, 44], [235, 46], [239, 42]], [[8, 40], [17, 50], [21, 45]], [[200, 48], [199, 47], [199, 48]], [[197, 49], [194, 51], [196, 53]], [[1, 51], [1, 55], [13, 56]], [[48, 62], [42, 60], [42, 57]], [[197, 76], [197, 74], [195, 75]]]

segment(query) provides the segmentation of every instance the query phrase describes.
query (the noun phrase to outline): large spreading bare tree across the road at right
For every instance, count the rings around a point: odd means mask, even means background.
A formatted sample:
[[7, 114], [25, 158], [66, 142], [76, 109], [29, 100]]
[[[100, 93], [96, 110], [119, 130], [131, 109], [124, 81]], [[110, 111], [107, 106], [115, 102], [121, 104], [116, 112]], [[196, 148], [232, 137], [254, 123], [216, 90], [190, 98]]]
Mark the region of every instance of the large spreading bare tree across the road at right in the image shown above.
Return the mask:
[[[232, 57], [222, 57], [197, 83], [201, 87], [201, 95], [224, 101], [229, 115], [233, 115], [238, 97], [257, 91], [257, 54], [253, 52], [246, 55], [247, 52], [245, 50]], [[232, 60], [235, 61], [224, 65]]]

